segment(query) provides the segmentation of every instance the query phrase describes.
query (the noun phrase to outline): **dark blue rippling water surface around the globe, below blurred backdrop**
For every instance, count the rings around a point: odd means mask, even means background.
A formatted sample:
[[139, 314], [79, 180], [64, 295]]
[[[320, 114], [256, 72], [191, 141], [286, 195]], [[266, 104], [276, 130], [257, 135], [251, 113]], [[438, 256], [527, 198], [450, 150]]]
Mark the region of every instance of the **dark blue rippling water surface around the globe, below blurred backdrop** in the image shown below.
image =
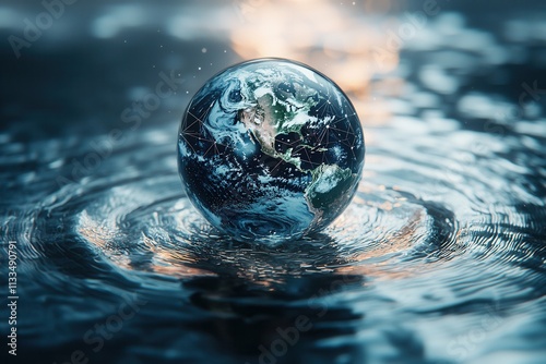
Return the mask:
[[[505, 31], [529, 25], [506, 16]], [[183, 105], [164, 101], [142, 125], [124, 124], [119, 142], [83, 113], [59, 122], [64, 131], [34, 124], [58, 111], [2, 124], [1, 229], [4, 244], [17, 242], [20, 354], [543, 363], [546, 96], [518, 97], [523, 84], [546, 87], [545, 39], [462, 21], [432, 24], [429, 46], [406, 45], [399, 68], [372, 81], [366, 105], [390, 116], [361, 117], [366, 166], [352, 205], [323, 232], [280, 246], [232, 241], [192, 208], [176, 166]], [[463, 46], [437, 41], [446, 24]], [[484, 45], [497, 58], [483, 57]], [[527, 52], [520, 63], [508, 59], [515, 48]], [[191, 72], [181, 75], [190, 85]], [[179, 94], [177, 102], [191, 96]], [[11, 110], [4, 120], [16, 121]]]

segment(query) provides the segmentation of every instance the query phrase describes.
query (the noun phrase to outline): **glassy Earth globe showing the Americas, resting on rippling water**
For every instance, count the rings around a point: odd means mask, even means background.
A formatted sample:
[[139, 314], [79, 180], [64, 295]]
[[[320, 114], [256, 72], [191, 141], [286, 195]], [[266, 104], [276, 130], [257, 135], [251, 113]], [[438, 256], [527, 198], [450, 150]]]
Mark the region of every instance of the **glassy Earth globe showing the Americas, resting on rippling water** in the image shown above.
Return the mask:
[[348, 205], [364, 135], [347, 96], [301, 63], [228, 68], [193, 96], [178, 137], [188, 197], [236, 240], [282, 242], [318, 231]]

